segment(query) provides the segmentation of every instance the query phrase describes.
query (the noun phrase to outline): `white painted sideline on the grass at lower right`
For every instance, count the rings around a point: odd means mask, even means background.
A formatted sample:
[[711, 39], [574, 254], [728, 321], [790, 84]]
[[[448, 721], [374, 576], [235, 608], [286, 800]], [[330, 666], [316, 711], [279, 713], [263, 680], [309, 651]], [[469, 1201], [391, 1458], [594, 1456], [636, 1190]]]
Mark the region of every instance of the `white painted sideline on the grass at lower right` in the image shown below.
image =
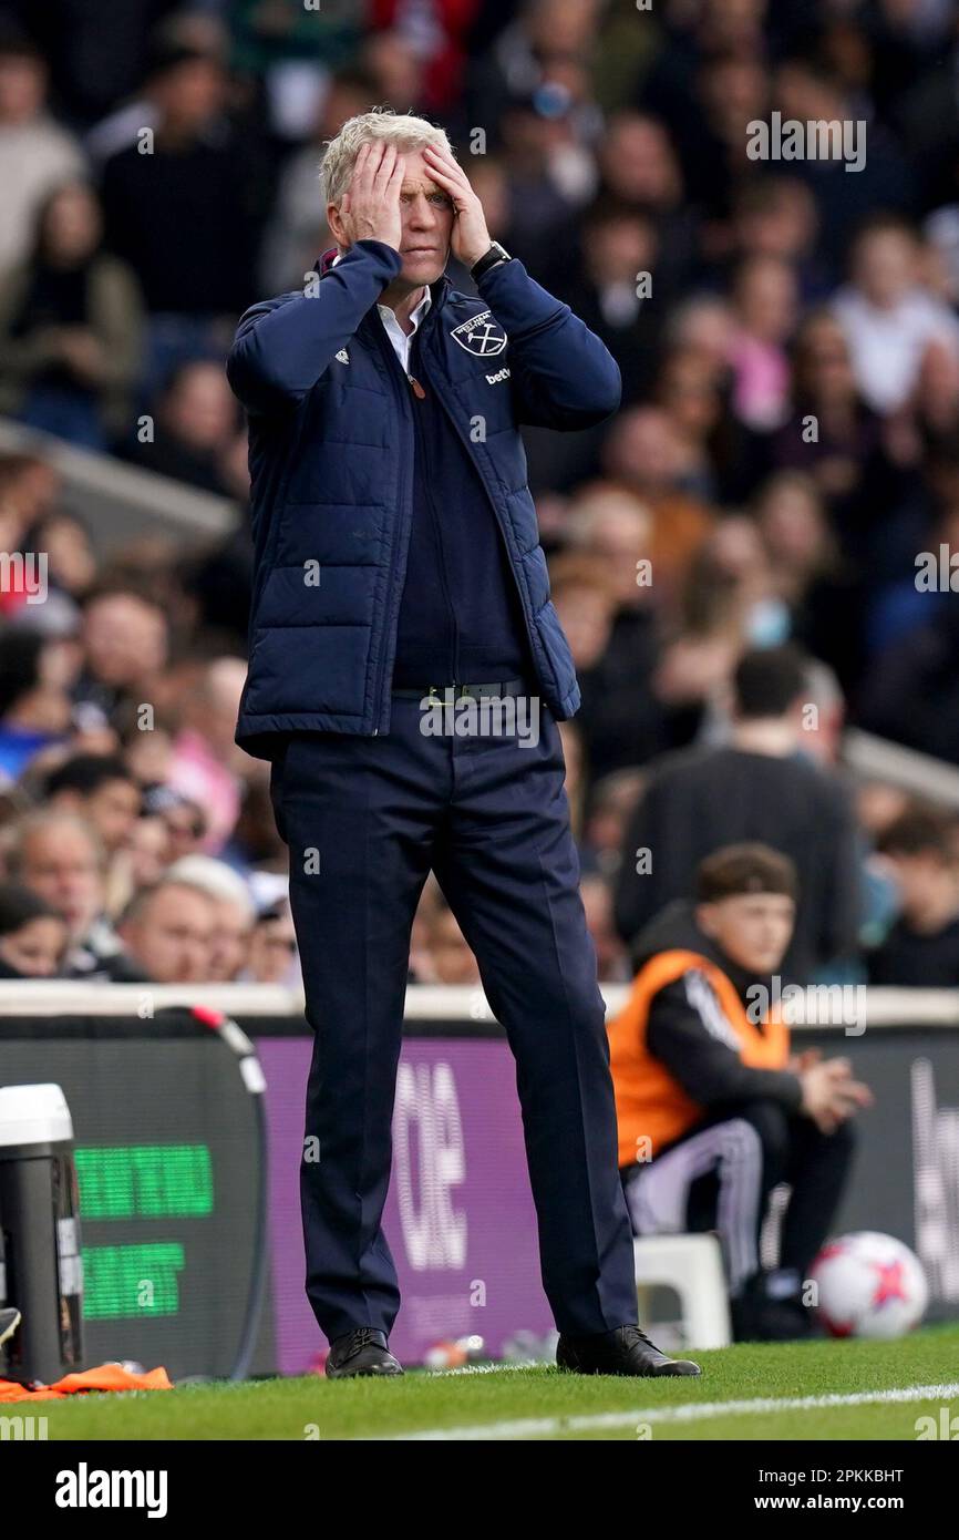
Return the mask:
[[417, 1434], [391, 1434], [386, 1443], [534, 1438], [539, 1434], [586, 1432], [596, 1428], [628, 1428], [631, 1423], [696, 1423], [710, 1417], [742, 1417], [750, 1412], [811, 1412], [824, 1406], [877, 1406], [888, 1401], [951, 1401], [957, 1384], [910, 1384], [897, 1391], [859, 1391], [851, 1395], [762, 1397], [756, 1401], [690, 1401], [687, 1406], [645, 1406], [628, 1412], [594, 1412], [590, 1417], [523, 1417], [508, 1423], [477, 1423], [474, 1428], [429, 1428]]

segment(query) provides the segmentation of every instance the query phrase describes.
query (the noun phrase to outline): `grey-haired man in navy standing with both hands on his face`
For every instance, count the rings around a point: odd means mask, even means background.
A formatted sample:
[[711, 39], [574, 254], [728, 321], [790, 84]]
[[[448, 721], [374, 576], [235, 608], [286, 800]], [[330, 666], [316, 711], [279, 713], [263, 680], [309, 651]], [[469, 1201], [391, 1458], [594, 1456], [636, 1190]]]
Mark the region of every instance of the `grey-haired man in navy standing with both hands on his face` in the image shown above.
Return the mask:
[[[556, 725], [579, 687], [519, 431], [602, 422], [619, 407], [619, 370], [490, 240], [442, 129], [362, 114], [322, 176], [336, 249], [305, 291], [246, 311], [228, 374], [249, 419], [256, 562], [237, 742], [272, 761], [289, 847], [314, 1032], [306, 1294], [331, 1343], [326, 1374], [402, 1372], [380, 1218], [429, 870], [516, 1055], [557, 1361], [697, 1374], [636, 1324], [605, 1009]], [[451, 253], [479, 297], [445, 277]], [[533, 702], [534, 741], [423, 730], [431, 701], [485, 696]], [[440, 1120], [457, 1116], [448, 1090], [436, 1092]], [[449, 1200], [433, 1249], [466, 1300], [476, 1261], [456, 1187]]]

